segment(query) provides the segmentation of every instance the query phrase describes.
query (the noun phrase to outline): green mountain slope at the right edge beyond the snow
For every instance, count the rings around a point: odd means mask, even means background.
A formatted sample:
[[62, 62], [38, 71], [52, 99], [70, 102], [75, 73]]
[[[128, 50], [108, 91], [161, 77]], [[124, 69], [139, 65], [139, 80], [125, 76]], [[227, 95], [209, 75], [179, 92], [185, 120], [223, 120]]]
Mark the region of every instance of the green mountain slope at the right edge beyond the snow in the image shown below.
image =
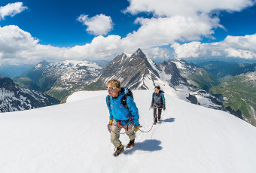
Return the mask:
[[256, 71], [230, 77], [211, 91], [223, 96], [224, 106], [242, 111], [245, 120], [256, 126]]

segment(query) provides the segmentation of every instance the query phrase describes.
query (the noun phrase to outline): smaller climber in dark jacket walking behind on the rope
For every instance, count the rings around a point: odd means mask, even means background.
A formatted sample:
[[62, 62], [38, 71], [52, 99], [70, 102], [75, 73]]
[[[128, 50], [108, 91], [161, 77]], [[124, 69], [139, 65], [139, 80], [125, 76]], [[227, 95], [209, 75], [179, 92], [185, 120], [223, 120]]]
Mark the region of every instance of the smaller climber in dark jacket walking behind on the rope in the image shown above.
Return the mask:
[[[151, 102], [151, 108], [154, 108], [154, 124], [157, 123], [158, 121], [161, 120], [161, 114], [162, 114], [162, 109], [163, 111], [166, 110], [166, 102], [163, 96], [163, 91], [160, 90], [160, 86], [156, 86], [154, 88], [154, 93], [152, 95], [152, 102]], [[158, 112], [158, 116], [157, 116]]]

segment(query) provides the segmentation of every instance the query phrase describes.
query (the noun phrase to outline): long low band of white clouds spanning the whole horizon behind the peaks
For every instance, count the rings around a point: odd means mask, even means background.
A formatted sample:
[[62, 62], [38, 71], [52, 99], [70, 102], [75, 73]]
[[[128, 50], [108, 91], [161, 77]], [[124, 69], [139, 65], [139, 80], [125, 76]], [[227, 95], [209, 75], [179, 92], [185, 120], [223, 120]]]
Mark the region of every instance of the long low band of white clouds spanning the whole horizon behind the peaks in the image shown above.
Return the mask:
[[[53, 47], [42, 45], [37, 38], [18, 26], [0, 27], [0, 61], [1, 62], [38, 62], [62, 59], [113, 59], [122, 52], [134, 53], [138, 45], [118, 35], [99, 35], [90, 44], [75, 47]], [[166, 47], [150, 47], [146, 44], [142, 50], [151, 58], [168, 58], [172, 56]], [[187, 57], [240, 57], [256, 59], [256, 34], [245, 36], [227, 36], [224, 41], [200, 43], [192, 41], [187, 44], [172, 44], [176, 58]]]

